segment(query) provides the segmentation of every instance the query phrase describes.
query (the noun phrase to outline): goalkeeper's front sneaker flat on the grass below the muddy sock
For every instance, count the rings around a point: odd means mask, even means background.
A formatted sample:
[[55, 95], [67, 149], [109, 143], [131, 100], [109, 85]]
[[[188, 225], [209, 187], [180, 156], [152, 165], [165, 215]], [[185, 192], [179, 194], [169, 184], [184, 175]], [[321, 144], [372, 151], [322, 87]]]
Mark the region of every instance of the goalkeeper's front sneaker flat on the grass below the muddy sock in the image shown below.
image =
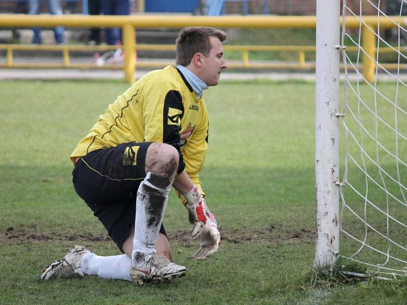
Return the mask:
[[167, 282], [181, 278], [187, 273], [184, 266], [171, 263], [157, 252], [144, 257], [144, 261], [136, 266], [130, 266], [130, 278], [135, 285], [149, 282]]

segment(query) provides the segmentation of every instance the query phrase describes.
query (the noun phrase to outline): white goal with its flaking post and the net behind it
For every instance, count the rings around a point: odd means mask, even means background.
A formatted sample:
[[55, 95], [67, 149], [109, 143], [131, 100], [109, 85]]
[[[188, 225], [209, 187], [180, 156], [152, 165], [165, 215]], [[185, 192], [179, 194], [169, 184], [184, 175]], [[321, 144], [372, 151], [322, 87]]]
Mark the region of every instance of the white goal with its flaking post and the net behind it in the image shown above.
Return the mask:
[[316, 268], [407, 277], [406, 28], [407, 0], [316, 2]]

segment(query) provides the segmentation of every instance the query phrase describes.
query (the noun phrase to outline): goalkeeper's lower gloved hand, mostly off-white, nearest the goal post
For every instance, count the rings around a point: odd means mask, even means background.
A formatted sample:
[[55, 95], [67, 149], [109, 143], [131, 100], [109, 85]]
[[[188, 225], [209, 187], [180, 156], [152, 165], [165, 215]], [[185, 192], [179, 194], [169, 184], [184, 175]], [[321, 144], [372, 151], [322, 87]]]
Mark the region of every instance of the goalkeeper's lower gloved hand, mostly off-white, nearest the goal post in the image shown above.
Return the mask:
[[215, 217], [211, 212], [207, 212], [207, 223], [200, 234], [200, 248], [192, 256], [197, 260], [205, 260], [214, 255], [220, 245], [220, 233]]

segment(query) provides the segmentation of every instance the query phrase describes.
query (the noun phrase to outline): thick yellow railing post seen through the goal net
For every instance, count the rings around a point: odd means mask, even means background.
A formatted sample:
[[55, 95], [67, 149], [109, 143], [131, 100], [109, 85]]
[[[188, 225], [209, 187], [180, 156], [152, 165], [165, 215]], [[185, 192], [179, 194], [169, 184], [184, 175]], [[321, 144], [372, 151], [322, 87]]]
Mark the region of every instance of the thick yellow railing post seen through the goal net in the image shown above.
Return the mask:
[[[371, 25], [363, 27], [363, 77], [369, 82], [374, 82], [374, 70], [376, 69], [375, 63], [375, 43], [376, 38], [374, 35], [374, 27]], [[369, 58], [369, 56], [371, 58]], [[373, 59], [372, 59], [373, 58]]]

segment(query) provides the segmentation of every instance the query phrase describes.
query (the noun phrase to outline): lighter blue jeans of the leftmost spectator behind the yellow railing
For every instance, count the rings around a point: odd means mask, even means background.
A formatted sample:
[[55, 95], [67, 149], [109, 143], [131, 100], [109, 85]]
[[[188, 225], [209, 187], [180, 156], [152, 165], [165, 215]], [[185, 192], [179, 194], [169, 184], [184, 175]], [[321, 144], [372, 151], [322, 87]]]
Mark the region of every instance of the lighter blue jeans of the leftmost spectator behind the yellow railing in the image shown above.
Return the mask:
[[[48, 11], [51, 15], [62, 15], [60, 0], [47, 0]], [[28, 0], [28, 14], [39, 15], [41, 13], [41, 0]], [[54, 29], [55, 40], [57, 43], [65, 43], [63, 26], [57, 26]], [[33, 27], [33, 43], [41, 43], [41, 28]]]

